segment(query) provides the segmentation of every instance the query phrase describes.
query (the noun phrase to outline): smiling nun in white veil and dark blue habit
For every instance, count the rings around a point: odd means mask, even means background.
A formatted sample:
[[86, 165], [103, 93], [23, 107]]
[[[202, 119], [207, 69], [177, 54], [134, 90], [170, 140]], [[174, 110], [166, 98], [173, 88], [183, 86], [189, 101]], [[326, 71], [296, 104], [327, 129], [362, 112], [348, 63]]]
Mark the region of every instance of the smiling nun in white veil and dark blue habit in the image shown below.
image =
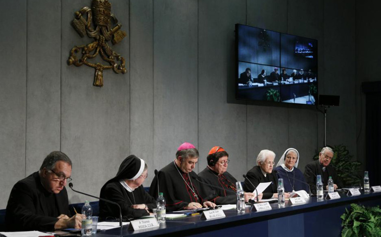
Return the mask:
[[[309, 192], [309, 187], [300, 169], [298, 169], [299, 152], [294, 148], [288, 148], [283, 153], [274, 170], [277, 171], [278, 178], [283, 178], [285, 192], [304, 190]], [[302, 181], [302, 182], [301, 182]], [[304, 182], [304, 183], [303, 183]]]

